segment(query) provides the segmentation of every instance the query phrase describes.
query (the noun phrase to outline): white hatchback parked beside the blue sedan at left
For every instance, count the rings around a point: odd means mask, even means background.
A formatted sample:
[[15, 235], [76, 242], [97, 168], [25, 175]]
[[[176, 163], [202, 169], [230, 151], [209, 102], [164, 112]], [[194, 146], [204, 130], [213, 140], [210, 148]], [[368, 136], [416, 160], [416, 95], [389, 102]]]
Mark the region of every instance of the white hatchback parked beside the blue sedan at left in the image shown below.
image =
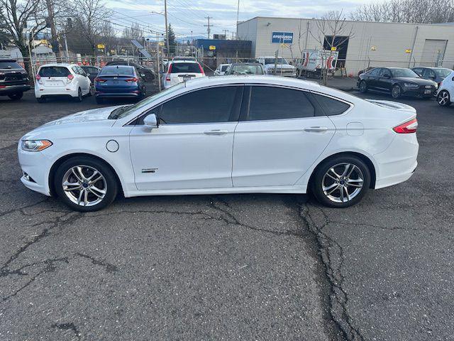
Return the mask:
[[92, 94], [92, 82], [77, 64], [46, 64], [38, 69], [35, 77], [35, 97], [40, 103], [48, 97], [70, 96], [81, 102]]

